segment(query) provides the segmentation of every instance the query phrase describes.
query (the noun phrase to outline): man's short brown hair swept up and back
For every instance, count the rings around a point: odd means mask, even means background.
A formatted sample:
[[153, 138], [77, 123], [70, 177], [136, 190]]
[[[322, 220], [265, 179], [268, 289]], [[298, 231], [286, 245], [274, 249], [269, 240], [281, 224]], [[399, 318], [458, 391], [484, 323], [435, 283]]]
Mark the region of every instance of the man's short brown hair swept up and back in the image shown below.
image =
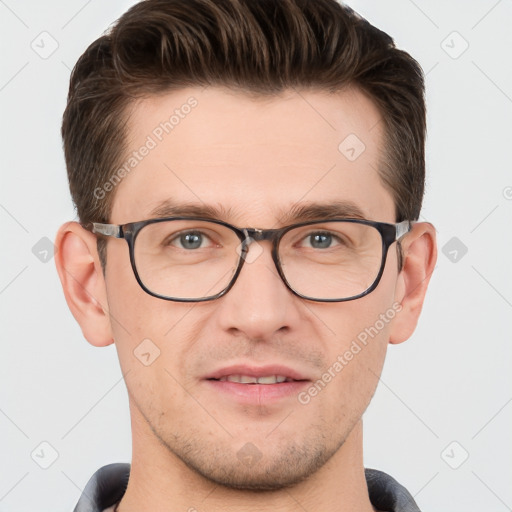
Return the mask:
[[336, 0], [144, 0], [87, 48], [71, 75], [62, 137], [82, 223], [109, 222], [115, 189], [102, 199], [94, 191], [123, 161], [127, 107], [151, 94], [207, 85], [255, 96], [356, 86], [382, 116], [379, 174], [396, 221], [418, 219], [424, 78], [390, 36]]

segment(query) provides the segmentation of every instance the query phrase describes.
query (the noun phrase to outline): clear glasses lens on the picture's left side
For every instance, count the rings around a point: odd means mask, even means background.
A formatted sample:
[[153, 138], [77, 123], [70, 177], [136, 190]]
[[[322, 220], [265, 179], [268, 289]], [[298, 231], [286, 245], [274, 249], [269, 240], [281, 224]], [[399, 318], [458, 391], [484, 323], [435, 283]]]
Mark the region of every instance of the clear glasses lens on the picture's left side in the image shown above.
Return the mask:
[[239, 260], [240, 240], [214, 222], [171, 220], [144, 226], [134, 247], [144, 286], [157, 295], [203, 299], [222, 292]]

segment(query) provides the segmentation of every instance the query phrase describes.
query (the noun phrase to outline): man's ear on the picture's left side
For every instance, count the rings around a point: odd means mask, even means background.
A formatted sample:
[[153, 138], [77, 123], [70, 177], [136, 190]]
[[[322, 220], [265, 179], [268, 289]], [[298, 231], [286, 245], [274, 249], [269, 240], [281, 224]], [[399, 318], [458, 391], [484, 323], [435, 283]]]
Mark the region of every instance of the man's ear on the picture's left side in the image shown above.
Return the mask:
[[77, 222], [68, 222], [57, 233], [55, 264], [66, 302], [84, 337], [91, 345], [104, 347], [114, 340], [96, 244], [94, 234]]

